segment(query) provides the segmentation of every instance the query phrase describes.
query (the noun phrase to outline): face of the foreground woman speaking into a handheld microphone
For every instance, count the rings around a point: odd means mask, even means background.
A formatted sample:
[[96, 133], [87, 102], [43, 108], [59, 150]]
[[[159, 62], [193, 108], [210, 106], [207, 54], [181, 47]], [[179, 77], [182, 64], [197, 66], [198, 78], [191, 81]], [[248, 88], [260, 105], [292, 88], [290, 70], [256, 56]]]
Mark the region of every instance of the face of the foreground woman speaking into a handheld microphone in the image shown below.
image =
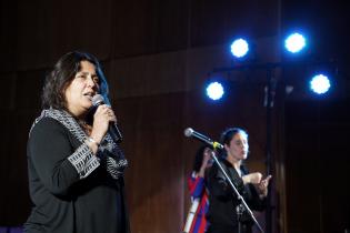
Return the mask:
[[76, 116], [83, 115], [92, 107], [92, 97], [99, 91], [99, 78], [94, 64], [80, 62], [81, 69], [64, 91], [67, 108]]

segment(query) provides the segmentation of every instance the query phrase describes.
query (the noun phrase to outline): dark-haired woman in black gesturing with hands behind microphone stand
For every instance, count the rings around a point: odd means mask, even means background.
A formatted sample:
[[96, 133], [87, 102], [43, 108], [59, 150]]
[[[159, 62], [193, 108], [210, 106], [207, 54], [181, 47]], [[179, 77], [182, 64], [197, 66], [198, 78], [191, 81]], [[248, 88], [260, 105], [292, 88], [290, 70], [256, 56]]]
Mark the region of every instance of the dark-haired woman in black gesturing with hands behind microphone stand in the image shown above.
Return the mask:
[[[262, 211], [266, 206], [268, 184], [271, 176], [262, 179], [262, 174], [259, 172], [249, 173], [243, 164], [249, 152], [247, 132], [239, 128], [228, 129], [221, 135], [221, 143], [224, 150], [221, 154], [220, 163], [224, 171], [249, 207]], [[216, 164], [208, 173], [208, 189], [210, 193], [208, 232], [234, 233], [238, 232], [239, 222], [241, 223], [240, 233], [251, 232], [253, 222], [247, 211], [243, 211], [242, 216], [238, 220], [237, 206], [240, 204], [240, 201]]]

